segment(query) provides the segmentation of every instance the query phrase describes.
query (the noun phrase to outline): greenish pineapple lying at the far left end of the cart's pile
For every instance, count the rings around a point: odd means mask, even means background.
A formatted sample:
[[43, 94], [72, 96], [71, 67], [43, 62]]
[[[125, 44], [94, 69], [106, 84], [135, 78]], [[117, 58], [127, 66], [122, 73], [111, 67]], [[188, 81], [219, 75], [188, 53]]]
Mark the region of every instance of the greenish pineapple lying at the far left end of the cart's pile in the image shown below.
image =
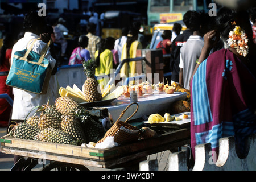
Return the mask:
[[10, 125], [9, 132], [11, 137], [20, 138], [20, 139], [27, 139], [27, 140], [34, 140], [34, 137], [40, 132], [38, 127], [33, 127], [26, 122], [18, 123], [16, 125]]

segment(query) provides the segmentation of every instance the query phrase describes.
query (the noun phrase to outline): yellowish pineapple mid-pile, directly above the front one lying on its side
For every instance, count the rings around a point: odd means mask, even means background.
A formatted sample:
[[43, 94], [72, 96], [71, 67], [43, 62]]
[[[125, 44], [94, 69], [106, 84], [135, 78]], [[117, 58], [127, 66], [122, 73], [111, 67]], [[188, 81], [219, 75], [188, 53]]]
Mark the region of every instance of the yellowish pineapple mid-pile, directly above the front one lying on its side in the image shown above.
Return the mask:
[[49, 113], [41, 113], [38, 127], [40, 130], [47, 128], [61, 129], [61, 120], [55, 117], [55, 115]]

